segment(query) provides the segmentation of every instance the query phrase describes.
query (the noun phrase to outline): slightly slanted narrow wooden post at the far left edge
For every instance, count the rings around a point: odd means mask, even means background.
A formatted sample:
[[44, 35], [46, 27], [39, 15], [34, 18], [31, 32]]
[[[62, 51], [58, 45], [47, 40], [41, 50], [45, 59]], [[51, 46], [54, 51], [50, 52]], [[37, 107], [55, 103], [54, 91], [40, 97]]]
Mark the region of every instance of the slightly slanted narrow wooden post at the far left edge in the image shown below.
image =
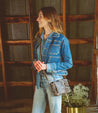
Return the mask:
[[8, 97], [7, 97], [7, 85], [6, 85], [6, 75], [5, 75], [4, 52], [3, 52], [2, 35], [1, 35], [1, 24], [0, 24], [0, 48], [1, 48], [2, 75], [3, 75], [3, 83], [4, 83], [4, 95], [5, 95], [5, 100], [7, 100]]

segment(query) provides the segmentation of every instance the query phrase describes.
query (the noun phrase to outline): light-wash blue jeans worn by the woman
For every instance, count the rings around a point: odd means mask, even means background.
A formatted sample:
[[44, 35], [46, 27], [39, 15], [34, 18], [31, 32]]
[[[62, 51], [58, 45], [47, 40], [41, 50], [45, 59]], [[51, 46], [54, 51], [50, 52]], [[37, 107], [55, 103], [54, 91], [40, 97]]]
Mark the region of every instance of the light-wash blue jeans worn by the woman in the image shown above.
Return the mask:
[[32, 113], [45, 113], [46, 95], [48, 97], [50, 113], [61, 113], [62, 96], [54, 96], [50, 86], [47, 88], [35, 88]]

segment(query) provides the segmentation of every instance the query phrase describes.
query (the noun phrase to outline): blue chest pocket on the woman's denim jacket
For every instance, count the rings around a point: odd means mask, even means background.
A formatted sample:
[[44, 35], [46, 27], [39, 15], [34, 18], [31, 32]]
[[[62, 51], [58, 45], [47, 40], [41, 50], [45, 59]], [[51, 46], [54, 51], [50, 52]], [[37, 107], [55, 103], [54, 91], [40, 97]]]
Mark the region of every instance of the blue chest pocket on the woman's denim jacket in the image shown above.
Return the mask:
[[60, 53], [60, 45], [52, 44], [49, 49], [49, 55], [58, 55]]

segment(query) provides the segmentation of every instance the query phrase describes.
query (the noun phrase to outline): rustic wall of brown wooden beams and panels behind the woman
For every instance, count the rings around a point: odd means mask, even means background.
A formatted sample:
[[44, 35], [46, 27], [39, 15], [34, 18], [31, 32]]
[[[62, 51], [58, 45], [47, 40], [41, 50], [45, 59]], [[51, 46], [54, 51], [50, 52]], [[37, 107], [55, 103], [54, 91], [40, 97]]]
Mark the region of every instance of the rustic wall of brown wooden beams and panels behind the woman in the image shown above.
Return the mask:
[[[32, 38], [38, 30], [36, 22], [38, 11], [43, 6], [55, 7], [63, 20], [63, 28], [70, 42], [74, 63], [73, 68], [69, 70], [70, 84], [82, 82], [88, 85], [91, 91], [94, 89], [92, 95], [96, 95], [95, 1], [97, 0], [0, 1], [3, 47], [1, 48], [3, 54], [0, 55], [0, 98], [4, 97], [5, 93], [9, 99], [31, 98], [33, 95], [32, 86], [35, 83], [32, 81], [34, 75], [32, 76], [31, 69]], [[2, 61], [5, 65], [2, 65]]]

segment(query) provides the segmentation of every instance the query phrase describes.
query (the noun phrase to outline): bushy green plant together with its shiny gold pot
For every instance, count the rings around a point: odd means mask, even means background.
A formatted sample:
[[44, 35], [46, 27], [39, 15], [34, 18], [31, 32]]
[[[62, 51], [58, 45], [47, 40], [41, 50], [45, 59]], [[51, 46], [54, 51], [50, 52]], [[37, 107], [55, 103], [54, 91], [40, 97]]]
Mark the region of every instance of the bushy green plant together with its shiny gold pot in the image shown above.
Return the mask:
[[90, 103], [89, 88], [78, 84], [73, 87], [73, 90], [62, 96], [63, 106], [66, 106], [67, 113], [85, 113], [85, 106]]

